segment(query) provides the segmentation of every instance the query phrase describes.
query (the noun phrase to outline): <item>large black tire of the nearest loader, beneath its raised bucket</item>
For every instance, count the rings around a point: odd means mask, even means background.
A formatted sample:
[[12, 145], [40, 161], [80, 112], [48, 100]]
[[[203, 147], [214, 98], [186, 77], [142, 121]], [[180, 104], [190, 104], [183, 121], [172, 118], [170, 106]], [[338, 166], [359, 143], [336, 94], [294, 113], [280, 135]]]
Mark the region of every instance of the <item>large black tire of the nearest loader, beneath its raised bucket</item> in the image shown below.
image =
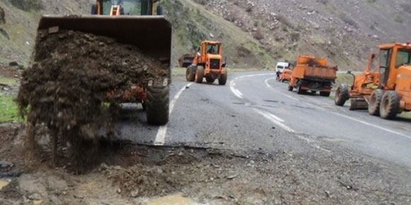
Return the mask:
[[169, 86], [148, 87], [145, 106], [148, 124], [167, 124], [169, 122]]

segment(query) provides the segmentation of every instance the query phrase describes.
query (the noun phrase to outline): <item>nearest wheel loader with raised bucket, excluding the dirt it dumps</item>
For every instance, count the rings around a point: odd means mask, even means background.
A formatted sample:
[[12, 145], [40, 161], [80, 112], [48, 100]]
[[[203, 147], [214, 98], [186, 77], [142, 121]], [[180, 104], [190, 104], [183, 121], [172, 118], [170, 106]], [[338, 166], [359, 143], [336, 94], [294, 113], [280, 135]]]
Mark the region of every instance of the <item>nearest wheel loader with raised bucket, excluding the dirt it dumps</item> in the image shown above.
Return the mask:
[[[157, 59], [169, 69], [171, 24], [161, 16], [162, 7], [158, 4], [153, 0], [96, 0], [91, 15], [46, 15], [40, 19], [38, 30], [59, 28], [112, 37], [137, 47], [146, 57]], [[127, 95], [121, 103], [142, 103], [149, 124], [167, 124], [169, 83], [169, 79], [164, 78], [150, 80], [142, 87], [133, 86], [125, 92]]]

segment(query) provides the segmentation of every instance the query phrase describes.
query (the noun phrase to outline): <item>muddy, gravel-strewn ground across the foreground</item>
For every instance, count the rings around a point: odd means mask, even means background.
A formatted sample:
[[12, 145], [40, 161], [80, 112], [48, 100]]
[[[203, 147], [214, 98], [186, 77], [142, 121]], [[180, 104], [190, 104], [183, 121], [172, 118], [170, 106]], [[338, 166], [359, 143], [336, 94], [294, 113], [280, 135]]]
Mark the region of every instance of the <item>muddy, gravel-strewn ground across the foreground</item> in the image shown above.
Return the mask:
[[[0, 204], [410, 204], [410, 172], [349, 150], [310, 156], [263, 149], [103, 143], [84, 175], [50, 166], [47, 134], [34, 155], [23, 124], [0, 125]], [[324, 148], [327, 144], [322, 145]], [[64, 151], [64, 147], [62, 151]], [[171, 201], [171, 198], [165, 199]]]

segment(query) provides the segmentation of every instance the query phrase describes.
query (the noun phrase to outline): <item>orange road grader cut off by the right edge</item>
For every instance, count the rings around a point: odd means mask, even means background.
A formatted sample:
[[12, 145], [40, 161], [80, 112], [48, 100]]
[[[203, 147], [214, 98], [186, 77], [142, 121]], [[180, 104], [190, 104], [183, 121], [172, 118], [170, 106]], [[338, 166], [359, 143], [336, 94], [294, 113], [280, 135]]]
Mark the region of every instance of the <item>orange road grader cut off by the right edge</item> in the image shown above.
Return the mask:
[[371, 65], [376, 55], [371, 52], [363, 74], [355, 76], [351, 89], [337, 88], [335, 105], [351, 100], [350, 110], [367, 108], [370, 115], [394, 119], [401, 112], [411, 111], [411, 45], [386, 44], [379, 47], [379, 64]]

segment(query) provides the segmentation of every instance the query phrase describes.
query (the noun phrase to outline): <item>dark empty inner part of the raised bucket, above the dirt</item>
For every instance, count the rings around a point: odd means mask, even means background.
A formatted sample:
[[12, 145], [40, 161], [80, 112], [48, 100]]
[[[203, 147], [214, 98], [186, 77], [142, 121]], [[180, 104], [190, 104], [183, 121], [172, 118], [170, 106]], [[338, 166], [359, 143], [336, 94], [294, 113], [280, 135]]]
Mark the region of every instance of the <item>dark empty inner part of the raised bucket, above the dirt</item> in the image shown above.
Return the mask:
[[113, 37], [168, 66], [171, 63], [171, 24], [164, 16], [47, 15], [40, 19], [38, 30], [53, 27]]

